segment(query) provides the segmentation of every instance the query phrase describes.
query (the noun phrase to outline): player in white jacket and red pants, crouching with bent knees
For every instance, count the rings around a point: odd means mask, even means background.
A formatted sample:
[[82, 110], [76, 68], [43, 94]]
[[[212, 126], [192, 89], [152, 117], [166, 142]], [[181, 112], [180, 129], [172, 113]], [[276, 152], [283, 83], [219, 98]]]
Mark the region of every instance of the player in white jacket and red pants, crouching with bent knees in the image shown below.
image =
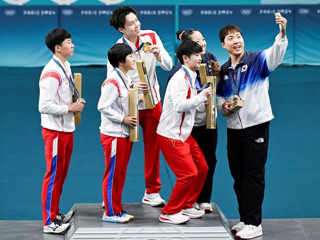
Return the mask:
[[206, 180], [208, 165], [195, 139], [191, 136], [196, 108], [205, 108], [204, 102], [212, 88], [197, 94], [195, 81], [201, 64], [201, 46], [185, 41], [177, 49], [182, 64], [171, 78], [163, 105], [157, 139], [163, 156], [176, 174], [177, 180], [167, 205], [159, 219], [180, 224], [205, 214], [193, 208]]

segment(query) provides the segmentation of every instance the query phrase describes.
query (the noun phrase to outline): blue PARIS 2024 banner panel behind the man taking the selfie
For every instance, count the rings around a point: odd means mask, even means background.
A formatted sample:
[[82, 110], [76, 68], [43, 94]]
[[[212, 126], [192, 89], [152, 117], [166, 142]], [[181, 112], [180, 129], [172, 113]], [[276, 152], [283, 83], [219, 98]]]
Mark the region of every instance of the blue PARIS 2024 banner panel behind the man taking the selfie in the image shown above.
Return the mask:
[[212, 52], [223, 64], [229, 58], [221, 47], [219, 30], [229, 24], [238, 25], [245, 40], [246, 51], [266, 49], [274, 43], [279, 34], [275, 13], [280, 12], [287, 20], [289, 44], [283, 64], [293, 64], [293, 5], [181, 5], [179, 29], [198, 29], [207, 41], [207, 50]]

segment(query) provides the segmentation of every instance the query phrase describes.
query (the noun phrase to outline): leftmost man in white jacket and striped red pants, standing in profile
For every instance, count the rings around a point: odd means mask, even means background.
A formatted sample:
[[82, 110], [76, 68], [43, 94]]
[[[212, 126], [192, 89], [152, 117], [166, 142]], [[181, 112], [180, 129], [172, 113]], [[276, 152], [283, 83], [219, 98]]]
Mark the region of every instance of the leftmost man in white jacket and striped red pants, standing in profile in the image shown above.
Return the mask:
[[[67, 58], [73, 55], [71, 35], [58, 28], [46, 36], [46, 45], [54, 53], [39, 80], [39, 112], [41, 113], [46, 173], [42, 185], [43, 231], [61, 234], [73, 214], [59, 213], [59, 201], [65, 182], [73, 146], [74, 112], [81, 112], [85, 101], [73, 103], [73, 81]], [[69, 78], [69, 79], [68, 79]]]

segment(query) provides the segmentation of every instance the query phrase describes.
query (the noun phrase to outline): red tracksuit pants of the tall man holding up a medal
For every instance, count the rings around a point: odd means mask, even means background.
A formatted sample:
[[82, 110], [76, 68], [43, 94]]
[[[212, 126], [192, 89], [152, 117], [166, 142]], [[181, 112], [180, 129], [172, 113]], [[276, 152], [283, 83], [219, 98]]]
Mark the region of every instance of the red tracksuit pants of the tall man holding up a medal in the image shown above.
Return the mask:
[[144, 179], [146, 193], [159, 193], [160, 149], [157, 139], [157, 127], [161, 115], [161, 102], [152, 109], [139, 110], [139, 124], [142, 127], [144, 143]]

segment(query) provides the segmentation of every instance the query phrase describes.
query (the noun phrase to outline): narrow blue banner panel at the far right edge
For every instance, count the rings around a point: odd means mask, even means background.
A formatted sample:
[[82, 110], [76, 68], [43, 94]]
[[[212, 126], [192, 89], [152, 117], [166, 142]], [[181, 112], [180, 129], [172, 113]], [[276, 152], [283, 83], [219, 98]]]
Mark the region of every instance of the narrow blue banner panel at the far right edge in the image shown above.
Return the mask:
[[320, 5], [295, 6], [295, 64], [320, 65]]

